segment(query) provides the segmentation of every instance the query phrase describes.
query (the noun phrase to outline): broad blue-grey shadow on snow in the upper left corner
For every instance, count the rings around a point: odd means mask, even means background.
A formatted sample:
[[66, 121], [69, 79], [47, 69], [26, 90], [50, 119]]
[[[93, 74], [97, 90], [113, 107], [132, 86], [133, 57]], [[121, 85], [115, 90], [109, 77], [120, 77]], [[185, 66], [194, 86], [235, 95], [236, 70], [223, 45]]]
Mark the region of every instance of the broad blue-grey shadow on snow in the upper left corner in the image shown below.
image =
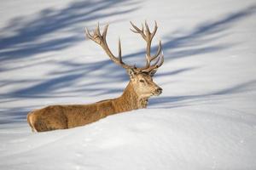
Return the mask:
[[[134, 5], [137, 3], [128, 0], [74, 1], [66, 8], [45, 8], [35, 16], [15, 18], [0, 30], [0, 62], [74, 46], [84, 41], [80, 32], [84, 32], [84, 26], [89, 27], [90, 21], [131, 13], [138, 8]], [[79, 26], [81, 23], [84, 26]], [[4, 37], [6, 31], [15, 34]], [[57, 32], [68, 36], [56, 37]]]

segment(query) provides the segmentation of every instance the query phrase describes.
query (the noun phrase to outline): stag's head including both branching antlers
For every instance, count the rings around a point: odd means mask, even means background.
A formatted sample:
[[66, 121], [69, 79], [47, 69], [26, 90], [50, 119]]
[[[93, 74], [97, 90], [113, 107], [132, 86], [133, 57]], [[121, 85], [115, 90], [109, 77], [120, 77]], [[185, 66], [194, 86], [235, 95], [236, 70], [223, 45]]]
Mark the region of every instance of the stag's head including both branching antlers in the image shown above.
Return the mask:
[[[131, 31], [140, 34], [145, 42], [147, 42], [147, 48], [146, 48], [146, 65], [137, 68], [132, 65], [126, 65], [122, 60], [122, 54], [121, 54], [121, 43], [119, 40], [119, 56], [116, 57], [113, 55], [113, 53], [108, 48], [108, 43], [106, 41], [107, 31], [108, 31], [108, 25], [105, 26], [102, 34], [100, 32], [99, 24], [96, 27], [96, 30], [93, 32], [93, 34], [90, 34], [90, 32], [86, 29], [86, 35], [89, 37], [92, 41], [98, 43], [104, 51], [108, 54], [109, 58], [113, 60], [114, 63], [117, 65], [122, 66], [127, 71], [130, 82], [134, 88], [134, 91], [141, 96], [142, 98], [148, 98], [152, 95], [160, 95], [162, 93], [162, 88], [160, 88], [157, 84], [153, 82], [154, 73], [157, 71], [157, 69], [164, 63], [164, 55], [162, 54], [162, 46], [161, 42], [159, 42], [158, 50], [156, 54], [153, 56], [151, 55], [151, 42], [152, 39], [157, 31], [157, 24], [154, 22], [154, 31], [149, 31], [148, 24], [145, 22], [145, 26], [142, 27], [142, 29], [139, 29], [137, 26], [133, 25], [131, 23], [131, 26], [134, 28], [134, 30], [131, 29]], [[145, 27], [145, 29], [144, 29]], [[151, 62], [154, 62], [153, 64]]]

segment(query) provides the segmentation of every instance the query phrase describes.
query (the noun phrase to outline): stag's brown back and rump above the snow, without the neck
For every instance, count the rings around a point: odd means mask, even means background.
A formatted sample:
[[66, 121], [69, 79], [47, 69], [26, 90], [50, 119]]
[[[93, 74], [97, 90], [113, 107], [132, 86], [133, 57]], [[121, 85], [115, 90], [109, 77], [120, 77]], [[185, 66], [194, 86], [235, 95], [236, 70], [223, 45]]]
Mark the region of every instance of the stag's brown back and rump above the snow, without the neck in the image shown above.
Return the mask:
[[30, 112], [27, 121], [35, 131], [44, 132], [83, 126], [114, 112], [111, 100], [91, 105], [50, 105]]

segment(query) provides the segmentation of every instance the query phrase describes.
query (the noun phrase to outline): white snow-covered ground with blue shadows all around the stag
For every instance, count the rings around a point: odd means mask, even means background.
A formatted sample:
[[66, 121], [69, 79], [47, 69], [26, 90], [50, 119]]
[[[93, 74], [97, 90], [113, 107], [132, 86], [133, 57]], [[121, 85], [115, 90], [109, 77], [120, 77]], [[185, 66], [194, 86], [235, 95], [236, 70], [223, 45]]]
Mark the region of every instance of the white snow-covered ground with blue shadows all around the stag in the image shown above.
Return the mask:
[[[0, 2], [0, 169], [256, 169], [254, 0]], [[164, 89], [148, 109], [84, 127], [32, 133], [26, 114], [117, 97], [128, 82], [84, 27], [110, 23], [108, 44], [144, 63], [132, 33], [158, 21]]]

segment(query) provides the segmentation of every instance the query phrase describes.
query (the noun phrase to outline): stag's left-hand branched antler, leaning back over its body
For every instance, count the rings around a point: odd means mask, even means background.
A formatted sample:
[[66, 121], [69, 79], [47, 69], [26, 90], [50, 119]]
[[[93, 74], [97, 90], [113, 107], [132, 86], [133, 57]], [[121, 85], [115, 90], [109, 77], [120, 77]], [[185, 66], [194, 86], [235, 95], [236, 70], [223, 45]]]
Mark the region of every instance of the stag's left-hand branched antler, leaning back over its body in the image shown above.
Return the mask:
[[120, 38], [119, 38], [119, 44], [118, 44], [119, 57], [115, 57], [113, 55], [113, 53], [110, 51], [110, 49], [108, 48], [108, 43], [106, 41], [107, 31], [108, 31], [108, 25], [104, 27], [104, 30], [101, 34], [99, 23], [97, 24], [96, 29], [93, 31], [92, 35], [88, 31], [88, 29], [85, 28], [85, 32], [86, 32], [87, 37], [90, 38], [92, 41], [98, 43], [100, 46], [102, 46], [104, 51], [108, 54], [109, 58], [112, 59], [114, 63], [122, 66], [125, 69], [131, 68], [132, 67], [131, 65], [125, 65], [125, 63], [122, 60], [122, 51], [121, 51]]

